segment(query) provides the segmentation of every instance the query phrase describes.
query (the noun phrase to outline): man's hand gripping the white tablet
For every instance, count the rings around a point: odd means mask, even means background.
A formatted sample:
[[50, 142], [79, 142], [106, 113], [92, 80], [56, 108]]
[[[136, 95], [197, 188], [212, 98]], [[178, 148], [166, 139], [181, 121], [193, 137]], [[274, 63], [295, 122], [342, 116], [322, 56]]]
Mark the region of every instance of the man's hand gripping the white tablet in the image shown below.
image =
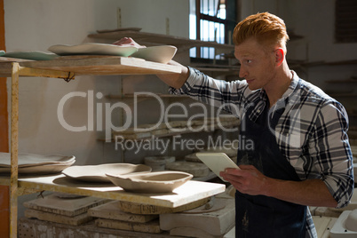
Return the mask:
[[242, 194], [264, 194], [266, 176], [253, 165], [239, 165], [239, 169], [226, 169], [220, 172], [226, 181], [230, 182]]

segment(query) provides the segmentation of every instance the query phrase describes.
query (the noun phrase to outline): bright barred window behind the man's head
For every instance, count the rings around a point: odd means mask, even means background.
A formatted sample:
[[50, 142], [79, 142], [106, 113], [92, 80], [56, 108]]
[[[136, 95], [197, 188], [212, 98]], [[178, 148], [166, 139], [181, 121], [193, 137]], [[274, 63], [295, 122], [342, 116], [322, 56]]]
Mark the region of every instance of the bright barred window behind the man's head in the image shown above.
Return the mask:
[[[232, 7], [229, 12], [228, 6]], [[228, 44], [232, 37], [232, 26], [235, 26], [234, 0], [190, 0], [190, 39]], [[221, 59], [212, 47], [193, 48], [190, 57]]]

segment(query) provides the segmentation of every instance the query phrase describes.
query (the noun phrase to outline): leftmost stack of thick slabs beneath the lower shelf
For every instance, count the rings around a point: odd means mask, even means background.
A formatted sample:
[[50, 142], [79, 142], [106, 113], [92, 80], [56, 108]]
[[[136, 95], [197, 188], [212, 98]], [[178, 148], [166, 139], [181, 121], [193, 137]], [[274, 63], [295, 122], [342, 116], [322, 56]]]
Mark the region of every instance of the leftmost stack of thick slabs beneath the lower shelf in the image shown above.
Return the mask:
[[24, 202], [27, 218], [78, 226], [93, 218], [88, 215], [90, 208], [109, 202], [107, 199], [54, 193], [32, 201]]

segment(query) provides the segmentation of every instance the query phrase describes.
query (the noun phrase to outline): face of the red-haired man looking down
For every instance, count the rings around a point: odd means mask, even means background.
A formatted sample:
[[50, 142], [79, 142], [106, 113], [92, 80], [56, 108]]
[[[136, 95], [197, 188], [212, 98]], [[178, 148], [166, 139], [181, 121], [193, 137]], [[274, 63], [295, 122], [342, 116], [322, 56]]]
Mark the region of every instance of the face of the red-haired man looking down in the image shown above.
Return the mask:
[[253, 37], [235, 45], [234, 56], [241, 62], [239, 76], [245, 78], [250, 90], [258, 90], [274, 83], [276, 75], [274, 49], [265, 51]]

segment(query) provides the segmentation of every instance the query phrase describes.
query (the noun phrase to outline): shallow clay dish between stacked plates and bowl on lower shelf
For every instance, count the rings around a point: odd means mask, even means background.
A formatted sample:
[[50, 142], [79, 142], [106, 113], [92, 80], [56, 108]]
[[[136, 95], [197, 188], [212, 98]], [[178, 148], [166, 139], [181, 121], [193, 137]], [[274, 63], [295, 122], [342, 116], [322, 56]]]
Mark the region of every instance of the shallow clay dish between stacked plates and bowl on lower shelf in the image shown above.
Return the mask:
[[151, 168], [144, 164], [105, 163], [99, 165], [71, 166], [62, 171], [62, 173], [69, 178], [75, 178], [85, 182], [110, 183], [106, 173], [124, 175], [131, 173], [146, 173], [150, 171]]

